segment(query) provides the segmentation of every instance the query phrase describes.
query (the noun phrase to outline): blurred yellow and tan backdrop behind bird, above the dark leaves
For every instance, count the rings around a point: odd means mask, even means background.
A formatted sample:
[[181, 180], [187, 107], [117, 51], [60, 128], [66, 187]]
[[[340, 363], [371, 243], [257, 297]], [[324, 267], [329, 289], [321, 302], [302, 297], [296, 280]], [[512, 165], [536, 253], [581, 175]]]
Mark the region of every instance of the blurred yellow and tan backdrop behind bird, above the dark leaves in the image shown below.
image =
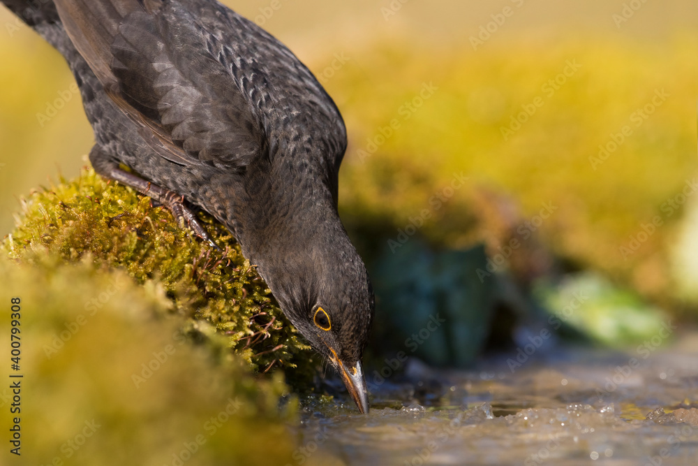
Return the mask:
[[[255, 17], [276, 2], [226, 3]], [[322, 82], [350, 135], [341, 172], [341, 206], [350, 226], [367, 218], [404, 226], [429, 207], [429, 197], [450, 183], [452, 173], [463, 171], [468, 184], [450, 204], [482, 218], [484, 207], [473, 207], [473, 198], [496, 193], [514, 205], [516, 227], [543, 203], [554, 203], [558, 211], [540, 229], [546, 247], [575, 267], [602, 270], [674, 306], [676, 298], [692, 295], [690, 279], [677, 285], [690, 277], [684, 272], [691, 261], [682, 265], [686, 254], [672, 251], [696, 201], [689, 198], [668, 216], [661, 205], [696, 175], [698, 6], [633, 2], [641, 7], [618, 27], [613, 15], [626, 3], [394, 1], [401, 6], [386, 19], [387, 0], [280, 0], [281, 8], [262, 25], [318, 75], [336, 54], [348, 57]], [[473, 50], [470, 37], [507, 6], [513, 15]], [[12, 227], [17, 196], [58, 171], [77, 175], [92, 140], [77, 95], [40, 126], [37, 114], [69, 91], [73, 79], [50, 46], [15, 24], [0, 11], [2, 232]], [[544, 96], [541, 86], [567, 60], [581, 68], [554, 96]], [[403, 120], [399, 108], [424, 82], [438, 90]], [[667, 101], [594, 170], [589, 157], [598, 145], [621, 131], [655, 89], [669, 93]], [[539, 95], [544, 105], [504, 140], [500, 127]], [[393, 118], [401, 119], [394, 136], [366, 163], [359, 161], [366, 138]], [[624, 258], [621, 247], [658, 214], [662, 228]], [[473, 233], [459, 209], [450, 208], [434, 212], [423, 232], [456, 247], [489, 240], [496, 251], [496, 232], [484, 225]]]

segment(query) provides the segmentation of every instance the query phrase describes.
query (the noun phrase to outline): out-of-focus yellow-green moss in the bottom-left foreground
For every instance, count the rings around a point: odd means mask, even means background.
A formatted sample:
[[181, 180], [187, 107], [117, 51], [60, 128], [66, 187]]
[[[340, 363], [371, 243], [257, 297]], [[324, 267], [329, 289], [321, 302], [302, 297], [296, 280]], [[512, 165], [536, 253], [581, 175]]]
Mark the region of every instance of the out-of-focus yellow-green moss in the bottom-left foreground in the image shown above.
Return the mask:
[[[83, 258], [68, 264], [36, 258], [33, 265], [0, 259], [0, 303], [8, 317], [0, 320], [3, 335], [10, 334], [10, 299], [20, 299], [20, 370], [13, 374], [24, 377], [12, 380], [21, 383], [21, 412], [10, 414], [5, 405], [0, 415], [6, 426], [20, 418], [17, 460], [290, 462], [295, 445], [287, 423], [295, 420], [296, 402], [279, 404], [287, 391], [279, 374], [254, 377], [215, 332], [207, 344], [188, 342], [162, 282], [141, 286], [122, 270], [98, 270]], [[89, 306], [94, 300], [99, 305]], [[9, 347], [1, 351], [5, 361]], [[2, 404], [11, 400], [8, 392], [0, 390]]]

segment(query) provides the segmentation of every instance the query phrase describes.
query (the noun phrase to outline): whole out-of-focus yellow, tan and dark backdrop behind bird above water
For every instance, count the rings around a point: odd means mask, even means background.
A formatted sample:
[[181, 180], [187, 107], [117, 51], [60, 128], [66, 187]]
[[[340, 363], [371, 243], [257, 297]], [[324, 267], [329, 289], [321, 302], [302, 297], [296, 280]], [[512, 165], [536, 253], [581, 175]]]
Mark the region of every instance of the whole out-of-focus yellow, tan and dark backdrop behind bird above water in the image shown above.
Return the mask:
[[[695, 2], [224, 3], [343, 113], [341, 214], [383, 347], [439, 310], [448, 335], [419, 356], [440, 365], [554, 316], [614, 346], [698, 319]], [[0, 63], [4, 234], [93, 137], [63, 59], [3, 8]]]

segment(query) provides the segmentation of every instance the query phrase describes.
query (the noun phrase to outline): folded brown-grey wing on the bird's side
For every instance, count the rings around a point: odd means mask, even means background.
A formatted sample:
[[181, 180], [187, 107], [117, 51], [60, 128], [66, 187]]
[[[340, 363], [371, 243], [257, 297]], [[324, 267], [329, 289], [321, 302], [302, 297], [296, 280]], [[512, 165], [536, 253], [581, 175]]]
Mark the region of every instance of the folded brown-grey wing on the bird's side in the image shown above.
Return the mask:
[[55, 3], [107, 94], [158, 154], [241, 168], [262, 150], [262, 124], [184, 8], [158, 0]]

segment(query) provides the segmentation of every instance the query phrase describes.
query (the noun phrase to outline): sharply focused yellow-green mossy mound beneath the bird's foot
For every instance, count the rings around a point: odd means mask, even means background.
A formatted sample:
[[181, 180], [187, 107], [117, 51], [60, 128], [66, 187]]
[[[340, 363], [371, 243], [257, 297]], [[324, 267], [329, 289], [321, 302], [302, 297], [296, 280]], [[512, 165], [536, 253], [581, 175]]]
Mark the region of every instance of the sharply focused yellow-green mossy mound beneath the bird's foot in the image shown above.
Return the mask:
[[[224, 335], [225, 347], [255, 370], [282, 367], [297, 377], [312, 373], [317, 356], [285, 319], [234, 238], [211, 217], [200, 215], [222, 251], [179, 228], [172, 214], [153, 207], [150, 198], [107, 182], [91, 169], [21, 203], [17, 227], [2, 245], [10, 258], [123, 269], [138, 284], [161, 287], [169, 298], [168, 312], [184, 317], [188, 332], [205, 338], [200, 323], [211, 324]], [[85, 305], [99, 305], [99, 298]]]

